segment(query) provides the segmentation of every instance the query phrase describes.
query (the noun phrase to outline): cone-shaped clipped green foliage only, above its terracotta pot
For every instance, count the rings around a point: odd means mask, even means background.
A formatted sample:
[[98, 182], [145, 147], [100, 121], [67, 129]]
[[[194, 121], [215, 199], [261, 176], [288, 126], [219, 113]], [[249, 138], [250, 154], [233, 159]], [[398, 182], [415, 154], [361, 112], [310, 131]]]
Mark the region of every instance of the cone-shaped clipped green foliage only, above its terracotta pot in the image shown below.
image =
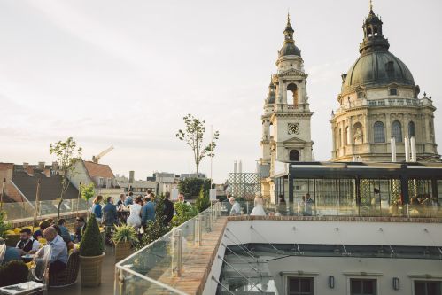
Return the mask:
[[80, 255], [98, 256], [103, 253], [103, 239], [100, 234], [95, 214], [92, 214], [86, 224], [83, 237], [81, 238]]

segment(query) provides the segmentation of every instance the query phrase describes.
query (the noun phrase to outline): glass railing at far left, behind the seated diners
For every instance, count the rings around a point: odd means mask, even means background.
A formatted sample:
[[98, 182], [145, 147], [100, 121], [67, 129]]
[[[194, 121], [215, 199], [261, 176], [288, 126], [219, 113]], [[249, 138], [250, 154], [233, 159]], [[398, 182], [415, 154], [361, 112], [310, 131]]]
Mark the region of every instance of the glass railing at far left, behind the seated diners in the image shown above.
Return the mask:
[[[58, 201], [40, 201], [35, 207], [35, 202], [15, 202], [2, 204], [2, 211], [6, 213], [7, 221], [18, 221], [32, 218], [35, 215], [35, 208], [37, 209], [37, 217], [44, 217], [48, 215], [57, 214]], [[61, 203], [60, 213], [75, 213], [78, 211], [89, 210], [90, 204], [85, 199], [66, 199]]]

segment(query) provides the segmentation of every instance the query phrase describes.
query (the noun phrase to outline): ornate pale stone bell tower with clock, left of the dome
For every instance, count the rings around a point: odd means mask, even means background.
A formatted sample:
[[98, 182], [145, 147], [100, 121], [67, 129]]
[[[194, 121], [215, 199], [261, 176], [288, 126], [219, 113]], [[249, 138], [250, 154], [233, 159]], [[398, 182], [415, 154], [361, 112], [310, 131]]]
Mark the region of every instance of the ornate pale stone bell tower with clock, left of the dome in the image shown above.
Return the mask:
[[283, 47], [278, 51], [276, 74], [272, 74], [262, 121], [262, 158], [275, 175], [275, 162], [311, 161], [313, 142], [306, 92], [307, 74], [301, 51], [295, 45], [290, 15], [283, 31]]

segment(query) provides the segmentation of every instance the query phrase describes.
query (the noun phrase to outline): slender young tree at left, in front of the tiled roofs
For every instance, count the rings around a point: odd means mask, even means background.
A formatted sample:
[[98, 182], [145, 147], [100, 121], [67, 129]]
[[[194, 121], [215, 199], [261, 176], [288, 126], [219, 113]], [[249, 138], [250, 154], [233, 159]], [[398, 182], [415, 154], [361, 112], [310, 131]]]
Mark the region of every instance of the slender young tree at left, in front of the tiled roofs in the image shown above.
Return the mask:
[[57, 143], [50, 144], [50, 154], [55, 154], [58, 159], [58, 174], [61, 175], [61, 191], [60, 198], [58, 198], [58, 212], [57, 220], [60, 218], [60, 208], [63, 203], [63, 197], [66, 190], [71, 183], [67, 178], [68, 175], [74, 173], [75, 163], [81, 160], [81, 147], [77, 148], [77, 143], [72, 137], [68, 137], [66, 141], [58, 141]]

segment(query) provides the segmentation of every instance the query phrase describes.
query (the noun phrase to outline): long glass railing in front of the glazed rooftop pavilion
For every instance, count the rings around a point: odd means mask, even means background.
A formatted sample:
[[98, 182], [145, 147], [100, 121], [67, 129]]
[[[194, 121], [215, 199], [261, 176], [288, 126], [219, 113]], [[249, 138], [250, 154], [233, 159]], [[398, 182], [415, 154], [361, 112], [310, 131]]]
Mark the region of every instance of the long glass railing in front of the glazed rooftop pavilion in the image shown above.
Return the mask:
[[[241, 213], [253, 214], [254, 201], [238, 201], [241, 206]], [[407, 217], [407, 218], [442, 218], [442, 206], [437, 204], [419, 205], [388, 205], [366, 204], [322, 204], [316, 205], [306, 202], [293, 202], [283, 204], [272, 204], [264, 202], [264, 210], [269, 216], [345, 216], [345, 217]], [[231, 205], [229, 202], [221, 203], [221, 213], [230, 214]]]

